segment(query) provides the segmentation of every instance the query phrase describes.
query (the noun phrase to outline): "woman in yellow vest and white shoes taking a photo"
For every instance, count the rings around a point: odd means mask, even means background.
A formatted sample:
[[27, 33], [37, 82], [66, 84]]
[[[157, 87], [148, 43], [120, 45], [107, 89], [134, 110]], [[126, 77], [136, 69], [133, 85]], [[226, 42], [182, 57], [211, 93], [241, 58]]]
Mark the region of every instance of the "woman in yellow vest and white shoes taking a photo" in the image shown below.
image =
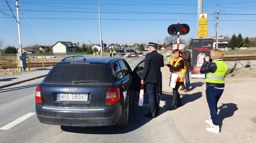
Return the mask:
[[[224, 91], [224, 78], [227, 72], [227, 64], [223, 62], [223, 56], [224, 54], [221, 50], [212, 50], [211, 56], [205, 57], [204, 63], [200, 69], [201, 73], [205, 73], [205, 94], [211, 115], [208, 120], [205, 120], [205, 122], [211, 126], [210, 128], [206, 128], [206, 130], [214, 133], [219, 133], [217, 103]], [[213, 60], [211, 63], [209, 63], [210, 58]]]

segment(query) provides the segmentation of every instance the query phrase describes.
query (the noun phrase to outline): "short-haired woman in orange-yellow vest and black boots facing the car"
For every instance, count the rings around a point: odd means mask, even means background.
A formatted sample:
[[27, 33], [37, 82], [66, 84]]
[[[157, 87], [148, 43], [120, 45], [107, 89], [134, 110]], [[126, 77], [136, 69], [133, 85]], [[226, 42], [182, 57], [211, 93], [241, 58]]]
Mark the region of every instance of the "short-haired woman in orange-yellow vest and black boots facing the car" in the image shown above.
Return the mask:
[[[178, 89], [183, 84], [186, 75], [186, 66], [184, 60], [180, 57], [180, 50], [174, 49], [172, 54], [174, 58], [172, 58], [170, 64], [165, 63], [165, 65], [170, 68], [170, 72], [178, 74], [178, 79], [175, 88], [172, 89], [173, 99], [171, 106], [167, 108], [168, 111], [175, 110], [177, 106], [182, 106]], [[175, 105], [176, 100], [178, 100], [177, 105]]]

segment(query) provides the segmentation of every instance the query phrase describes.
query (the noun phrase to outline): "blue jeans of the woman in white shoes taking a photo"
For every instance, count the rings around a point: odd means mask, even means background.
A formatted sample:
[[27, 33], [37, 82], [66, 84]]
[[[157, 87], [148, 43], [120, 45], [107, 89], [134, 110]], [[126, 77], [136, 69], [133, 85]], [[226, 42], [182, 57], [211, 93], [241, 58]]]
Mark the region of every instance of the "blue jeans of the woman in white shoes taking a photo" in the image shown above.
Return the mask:
[[224, 91], [224, 89], [217, 89], [214, 87], [206, 87], [206, 90], [205, 90], [206, 99], [207, 99], [208, 106], [210, 109], [212, 123], [216, 126], [219, 125], [218, 118], [217, 118], [217, 112], [218, 112], [217, 103], [218, 103], [219, 98], [221, 97], [223, 91]]

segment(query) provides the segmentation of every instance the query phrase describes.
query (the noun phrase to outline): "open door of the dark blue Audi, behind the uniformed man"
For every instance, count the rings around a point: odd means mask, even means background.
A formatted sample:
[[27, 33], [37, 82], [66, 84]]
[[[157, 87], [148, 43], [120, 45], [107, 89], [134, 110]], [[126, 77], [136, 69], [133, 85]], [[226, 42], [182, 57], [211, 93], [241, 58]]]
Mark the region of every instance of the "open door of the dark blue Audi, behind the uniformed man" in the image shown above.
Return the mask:
[[[132, 75], [134, 77], [134, 91], [140, 92], [141, 89], [141, 75], [144, 69], [144, 63], [145, 60], [142, 60], [138, 65], [135, 66]], [[144, 92], [147, 92], [146, 90], [146, 84], [143, 85], [144, 87]], [[160, 93], [160, 95], [162, 95], [162, 72], [161, 72], [161, 83], [159, 85], [158, 91]]]

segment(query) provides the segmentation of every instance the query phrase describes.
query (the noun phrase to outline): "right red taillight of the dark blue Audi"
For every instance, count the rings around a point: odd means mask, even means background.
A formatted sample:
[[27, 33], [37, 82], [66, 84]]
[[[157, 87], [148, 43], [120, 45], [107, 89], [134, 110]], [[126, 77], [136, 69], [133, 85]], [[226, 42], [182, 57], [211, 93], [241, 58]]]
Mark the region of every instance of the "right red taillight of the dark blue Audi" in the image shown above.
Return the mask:
[[120, 102], [119, 88], [109, 88], [106, 96], [106, 104], [114, 104]]

